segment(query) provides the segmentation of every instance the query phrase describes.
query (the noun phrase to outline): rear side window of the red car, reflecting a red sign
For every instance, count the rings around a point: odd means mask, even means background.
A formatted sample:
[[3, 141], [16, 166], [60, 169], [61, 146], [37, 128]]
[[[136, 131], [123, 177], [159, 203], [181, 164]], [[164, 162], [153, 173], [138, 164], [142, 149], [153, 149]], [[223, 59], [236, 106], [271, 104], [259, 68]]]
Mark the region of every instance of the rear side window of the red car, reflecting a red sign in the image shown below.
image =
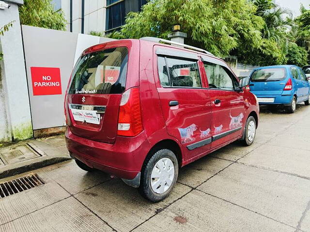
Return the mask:
[[158, 75], [162, 87], [202, 87], [196, 61], [159, 56]]

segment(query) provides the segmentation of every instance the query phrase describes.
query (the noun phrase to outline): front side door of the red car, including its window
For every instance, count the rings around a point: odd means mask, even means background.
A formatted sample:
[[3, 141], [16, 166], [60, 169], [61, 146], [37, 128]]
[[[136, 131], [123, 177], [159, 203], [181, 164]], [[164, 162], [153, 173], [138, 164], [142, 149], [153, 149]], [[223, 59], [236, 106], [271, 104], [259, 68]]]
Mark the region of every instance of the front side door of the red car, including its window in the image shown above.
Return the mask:
[[223, 146], [242, 134], [246, 122], [243, 91], [238, 91], [238, 80], [225, 62], [203, 57], [212, 108], [212, 145]]

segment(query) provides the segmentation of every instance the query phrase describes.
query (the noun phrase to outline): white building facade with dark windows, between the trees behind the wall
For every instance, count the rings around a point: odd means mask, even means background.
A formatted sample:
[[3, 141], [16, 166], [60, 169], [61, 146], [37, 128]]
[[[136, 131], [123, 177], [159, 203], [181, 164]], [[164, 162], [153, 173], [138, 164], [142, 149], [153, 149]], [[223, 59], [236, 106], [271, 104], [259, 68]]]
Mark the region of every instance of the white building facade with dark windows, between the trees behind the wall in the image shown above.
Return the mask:
[[67, 31], [89, 34], [120, 29], [129, 12], [140, 11], [147, 0], [52, 0], [55, 10], [62, 9]]

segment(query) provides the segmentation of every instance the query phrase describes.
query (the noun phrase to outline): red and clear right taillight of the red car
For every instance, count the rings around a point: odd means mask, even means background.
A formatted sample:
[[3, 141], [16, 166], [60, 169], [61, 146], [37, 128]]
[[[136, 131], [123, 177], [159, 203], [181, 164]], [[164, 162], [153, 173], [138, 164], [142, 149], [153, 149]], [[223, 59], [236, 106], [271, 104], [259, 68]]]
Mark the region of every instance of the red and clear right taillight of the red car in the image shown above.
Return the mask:
[[130, 88], [122, 95], [117, 135], [133, 137], [143, 131], [139, 88]]

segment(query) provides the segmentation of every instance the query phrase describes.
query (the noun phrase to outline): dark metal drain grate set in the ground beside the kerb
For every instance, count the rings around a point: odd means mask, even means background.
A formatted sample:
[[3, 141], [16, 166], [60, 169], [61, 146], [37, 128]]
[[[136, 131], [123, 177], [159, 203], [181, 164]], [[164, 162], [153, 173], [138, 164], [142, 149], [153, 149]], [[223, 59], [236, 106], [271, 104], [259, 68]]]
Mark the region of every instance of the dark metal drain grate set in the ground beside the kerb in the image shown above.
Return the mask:
[[0, 198], [43, 185], [37, 174], [26, 175], [15, 180], [0, 183]]

